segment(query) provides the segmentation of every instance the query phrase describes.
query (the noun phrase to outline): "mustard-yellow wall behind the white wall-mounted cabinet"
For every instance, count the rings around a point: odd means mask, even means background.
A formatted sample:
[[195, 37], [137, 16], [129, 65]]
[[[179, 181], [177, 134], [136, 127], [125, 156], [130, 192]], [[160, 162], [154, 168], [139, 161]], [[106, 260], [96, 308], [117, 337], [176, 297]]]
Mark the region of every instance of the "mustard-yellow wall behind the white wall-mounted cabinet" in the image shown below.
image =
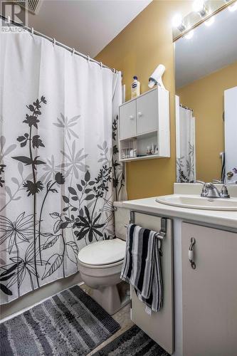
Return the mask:
[[127, 163], [129, 199], [172, 194], [175, 175], [174, 45], [172, 17], [191, 11], [192, 1], [153, 1], [96, 57], [112, 68], [122, 70], [126, 97], [130, 99], [132, 76], [137, 75], [142, 92], [147, 91], [149, 75], [159, 63], [166, 66], [164, 85], [170, 92], [171, 158]]

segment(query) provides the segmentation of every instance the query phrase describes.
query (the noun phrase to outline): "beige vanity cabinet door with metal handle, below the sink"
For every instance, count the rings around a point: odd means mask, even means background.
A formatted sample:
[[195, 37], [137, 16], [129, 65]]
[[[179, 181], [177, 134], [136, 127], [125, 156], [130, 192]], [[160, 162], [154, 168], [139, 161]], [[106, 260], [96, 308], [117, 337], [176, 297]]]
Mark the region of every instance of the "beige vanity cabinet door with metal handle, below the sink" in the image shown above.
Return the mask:
[[182, 223], [181, 240], [183, 356], [236, 356], [237, 234]]

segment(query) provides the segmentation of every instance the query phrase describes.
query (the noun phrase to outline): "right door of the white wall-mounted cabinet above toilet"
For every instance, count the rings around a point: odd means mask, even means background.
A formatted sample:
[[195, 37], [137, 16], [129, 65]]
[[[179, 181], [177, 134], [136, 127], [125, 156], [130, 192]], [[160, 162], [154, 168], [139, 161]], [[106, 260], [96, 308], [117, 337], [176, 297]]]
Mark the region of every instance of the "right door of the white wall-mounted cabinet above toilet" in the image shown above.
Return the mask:
[[157, 131], [158, 92], [152, 90], [137, 98], [137, 135]]

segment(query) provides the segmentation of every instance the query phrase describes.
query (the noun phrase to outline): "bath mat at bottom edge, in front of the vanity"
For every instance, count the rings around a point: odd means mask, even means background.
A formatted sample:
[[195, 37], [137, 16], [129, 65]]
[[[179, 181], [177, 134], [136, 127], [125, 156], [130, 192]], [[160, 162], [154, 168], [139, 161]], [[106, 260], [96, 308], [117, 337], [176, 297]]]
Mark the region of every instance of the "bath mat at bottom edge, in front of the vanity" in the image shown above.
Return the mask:
[[154, 342], [147, 334], [132, 326], [125, 333], [107, 344], [93, 356], [170, 356], [162, 347]]

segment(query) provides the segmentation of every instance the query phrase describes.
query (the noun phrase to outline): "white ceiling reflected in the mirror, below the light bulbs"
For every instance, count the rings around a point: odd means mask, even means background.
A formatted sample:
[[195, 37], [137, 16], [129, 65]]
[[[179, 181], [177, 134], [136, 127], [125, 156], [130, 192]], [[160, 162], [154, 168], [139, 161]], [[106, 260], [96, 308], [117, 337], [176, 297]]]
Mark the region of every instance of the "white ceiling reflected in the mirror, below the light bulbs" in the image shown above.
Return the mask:
[[175, 42], [176, 88], [237, 61], [237, 11], [225, 9], [214, 23], [202, 23], [190, 39]]

